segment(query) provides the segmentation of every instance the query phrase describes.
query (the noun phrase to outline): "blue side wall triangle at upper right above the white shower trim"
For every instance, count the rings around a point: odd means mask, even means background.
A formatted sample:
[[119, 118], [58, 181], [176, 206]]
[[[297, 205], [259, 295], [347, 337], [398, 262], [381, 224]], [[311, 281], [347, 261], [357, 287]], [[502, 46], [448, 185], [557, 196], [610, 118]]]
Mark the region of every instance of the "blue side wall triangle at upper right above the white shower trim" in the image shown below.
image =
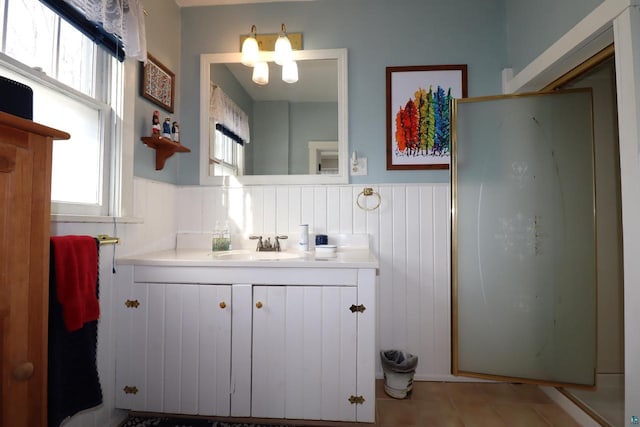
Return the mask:
[[522, 71], [603, 1], [505, 1], [507, 54], [514, 74]]

